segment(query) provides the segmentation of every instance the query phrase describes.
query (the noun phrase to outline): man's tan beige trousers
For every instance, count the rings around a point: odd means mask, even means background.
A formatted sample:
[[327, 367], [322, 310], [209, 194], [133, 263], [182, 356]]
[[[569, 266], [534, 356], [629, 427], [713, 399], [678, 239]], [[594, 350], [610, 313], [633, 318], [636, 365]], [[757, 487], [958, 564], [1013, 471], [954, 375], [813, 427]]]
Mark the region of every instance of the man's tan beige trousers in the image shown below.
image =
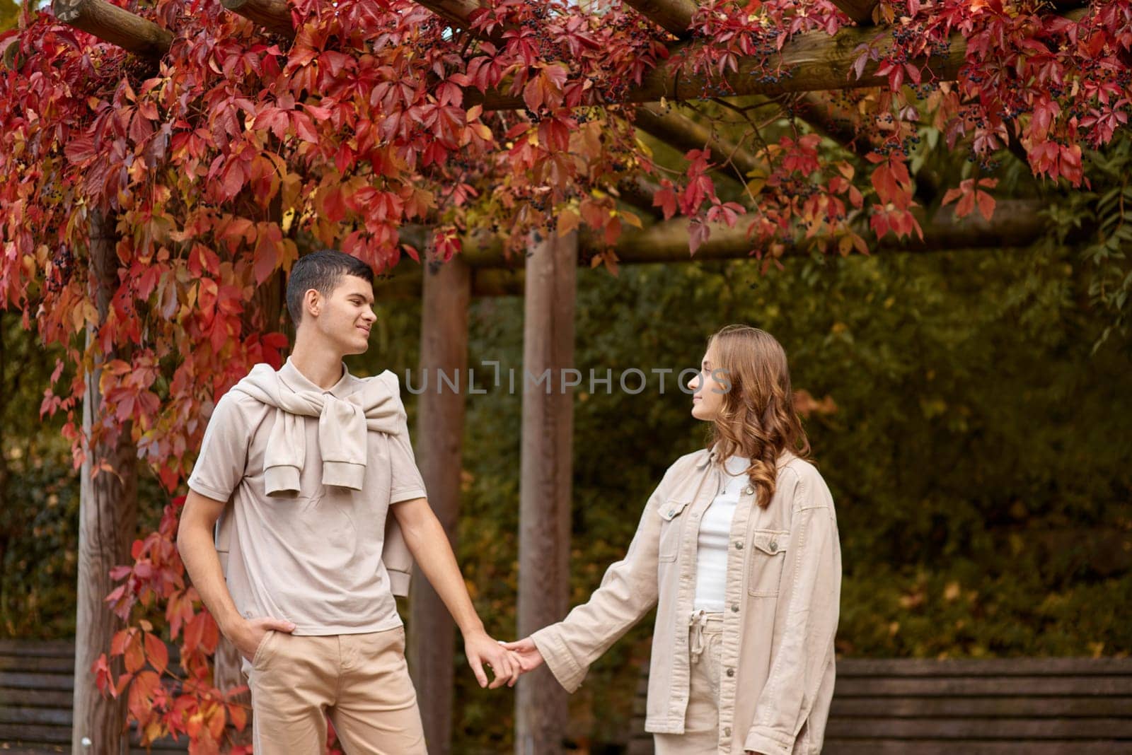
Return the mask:
[[346, 755], [424, 755], [405, 631], [268, 632], [248, 672], [256, 755], [321, 755], [326, 717]]

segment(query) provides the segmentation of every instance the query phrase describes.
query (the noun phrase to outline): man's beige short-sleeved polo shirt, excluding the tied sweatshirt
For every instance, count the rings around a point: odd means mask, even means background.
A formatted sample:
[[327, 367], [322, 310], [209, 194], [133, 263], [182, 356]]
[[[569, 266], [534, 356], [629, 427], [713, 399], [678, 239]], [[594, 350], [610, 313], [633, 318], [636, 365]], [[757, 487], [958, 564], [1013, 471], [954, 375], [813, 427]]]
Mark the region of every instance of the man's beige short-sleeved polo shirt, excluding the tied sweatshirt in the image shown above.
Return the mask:
[[[328, 390], [307, 380], [288, 359], [278, 371], [294, 391], [344, 399], [365, 382], [343, 366]], [[400, 394], [397, 378], [385, 380]], [[246, 618], [294, 623], [294, 634], [359, 634], [401, 625], [381, 562], [389, 505], [424, 497], [408, 428], [396, 436], [367, 433], [366, 477], [353, 491], [323, 485], [318, 417], [302, 417], [306, 461], [299, 494], [271, 496], [264, 481], [264, 452], [276, 410], [241, 391], [216, 403], [205, 431], [189, 487], [230, 502], [234, 517], [228, 556], [228, 589]]]

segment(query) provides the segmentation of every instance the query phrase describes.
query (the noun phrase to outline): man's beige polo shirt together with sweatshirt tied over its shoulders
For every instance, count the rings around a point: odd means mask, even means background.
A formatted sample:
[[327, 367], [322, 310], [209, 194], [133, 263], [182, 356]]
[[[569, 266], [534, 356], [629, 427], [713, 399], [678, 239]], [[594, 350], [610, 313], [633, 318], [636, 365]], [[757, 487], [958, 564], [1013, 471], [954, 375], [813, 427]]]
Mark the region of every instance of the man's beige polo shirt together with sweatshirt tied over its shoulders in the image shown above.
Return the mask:
[[401, 624], [412, 557], [393, 504], [424, 497], [397, 378], [321, 389], [293, 363], [257, 365], [216, 403], [189, 487], [226, 501], [216, 549], [245, 617], [297, 634]]

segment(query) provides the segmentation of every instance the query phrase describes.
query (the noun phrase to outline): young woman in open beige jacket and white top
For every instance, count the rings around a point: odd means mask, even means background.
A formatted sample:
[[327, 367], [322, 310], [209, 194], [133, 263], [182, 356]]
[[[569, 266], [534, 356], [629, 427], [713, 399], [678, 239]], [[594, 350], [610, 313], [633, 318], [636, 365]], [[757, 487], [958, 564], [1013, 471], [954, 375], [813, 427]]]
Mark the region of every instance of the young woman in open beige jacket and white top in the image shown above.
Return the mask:
[[506, 646], [574, 692], [655, 606], [645, 730], [658, 755], [814, 755], [833, 696], [841, 549], [786, 353], [729, 326], [689, 388], [707, 448], [669, 467], [586, 604]]

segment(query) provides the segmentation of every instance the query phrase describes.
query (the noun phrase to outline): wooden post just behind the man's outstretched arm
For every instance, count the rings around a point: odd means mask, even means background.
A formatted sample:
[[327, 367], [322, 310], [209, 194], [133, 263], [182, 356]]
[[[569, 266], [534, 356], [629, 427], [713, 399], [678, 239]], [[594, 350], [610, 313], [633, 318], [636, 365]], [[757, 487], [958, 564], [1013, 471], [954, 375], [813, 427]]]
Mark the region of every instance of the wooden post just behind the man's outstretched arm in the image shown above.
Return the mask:
[[[424, 478], [429, 505], [456, 545], [460, 513], [461, 452], [464, 440], [463, 388], [453, 391], [438, 371], [463, 375], [468, 364], [468, 305], [471, 268], [460, 257], [445, 263], [427, 262], [421, 301], [421, 372], [428, 380], [417, 416], [417, 462]], [[458, 371], [458, 373], [456, 373]], [[420, 382], [420, 381], [418, 381]], [[428, 580], [415, 570], [410, 589], [409, 669], [432, 755], [452, 748], [452, 689], [454, 628], [452, 617]]]

